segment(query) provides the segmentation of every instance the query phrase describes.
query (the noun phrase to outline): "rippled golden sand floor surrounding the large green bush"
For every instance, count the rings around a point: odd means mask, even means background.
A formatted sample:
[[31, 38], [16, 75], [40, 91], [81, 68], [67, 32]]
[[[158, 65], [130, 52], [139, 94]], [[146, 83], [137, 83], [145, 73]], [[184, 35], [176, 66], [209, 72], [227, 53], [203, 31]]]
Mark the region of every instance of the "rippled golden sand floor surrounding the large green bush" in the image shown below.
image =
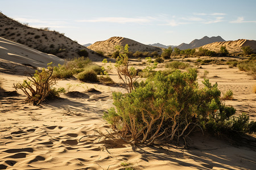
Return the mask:
[[[192, 58], [193, 59], [196, 58]], [[133, 62], [133, 65], [138, 65]], [[101, 65], [100, 62], [97, 63]], [[191, 63], [191, 65], [193, 65]], [[164, 64], [159, 64], [163, 67]], [[234, 92], [233, 105], [237, 114], [247, 112], [256, 121], [256, 80], [237, 67], [203, 65], [210, 82], [218, 83], [222, 92]], [[118, 82], [117, 76], [111, 75]], [[13, 91], [13, 83], [27, 76], [0, 73], [2, 87]], [[209, 134], [196, 133], [185, 149], [176, 143], [155, 146], [130, 146], [122, 141], [104, 141], [99, 134], [108, 134], [109, 124], [102, 114], [112, 106], [112, 92], [123, 91], [118, 86], [82, 83], [77, 79], [59, 80], [69, 95], [44, 102], [39, 106], [26, 103], [26, 96], [9, 95], [0, 98], [0, 169], [255, 169], [256, 142], [247, 139], [232, 145]], [[95, 88], [99, 92], [87, 92]], [[254, 136], [255, 137], [255, 136]], [[247, 142], [247, 143], [246, 143]]]

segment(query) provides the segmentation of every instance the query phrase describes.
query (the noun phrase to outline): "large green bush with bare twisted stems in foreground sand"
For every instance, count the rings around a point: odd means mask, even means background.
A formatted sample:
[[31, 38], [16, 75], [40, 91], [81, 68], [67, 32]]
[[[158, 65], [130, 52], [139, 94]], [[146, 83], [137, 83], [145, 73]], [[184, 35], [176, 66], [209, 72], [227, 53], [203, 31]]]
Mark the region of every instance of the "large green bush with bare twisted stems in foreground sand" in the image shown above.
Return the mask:
[[232, 117], [236, 110], [222, 103], [217, 83], [212, 86], [205, 79], [204, 88], [199, 88], [196, 80], [195, 69], [167, 76], [158, 72], [130, 94], [114, 92], [115, 108], [105, 112], [104, 118], [135, 144], [152, 145], [160, 138], [185, 141], [199, 127], [213, 133], [255, 132], [256, 123], [249, 124], [244, 114]]

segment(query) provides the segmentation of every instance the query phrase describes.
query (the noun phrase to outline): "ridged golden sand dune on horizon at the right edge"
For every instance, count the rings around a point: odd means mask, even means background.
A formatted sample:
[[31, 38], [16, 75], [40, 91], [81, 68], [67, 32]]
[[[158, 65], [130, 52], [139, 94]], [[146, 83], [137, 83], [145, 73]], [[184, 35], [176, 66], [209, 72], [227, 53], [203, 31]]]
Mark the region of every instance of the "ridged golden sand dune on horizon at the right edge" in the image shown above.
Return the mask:
[[239, 39], [236, 41], [224, 41], [224, 42], [213, 42], [211, 44], [203, 45], [202, 48], [213, 50], [215, 52], [220, 51], [221, 46], [226, 46], [229, 53], [242, 53], [242, 46], [250, 46], [251, 49], [256, 52], [256, 41]]

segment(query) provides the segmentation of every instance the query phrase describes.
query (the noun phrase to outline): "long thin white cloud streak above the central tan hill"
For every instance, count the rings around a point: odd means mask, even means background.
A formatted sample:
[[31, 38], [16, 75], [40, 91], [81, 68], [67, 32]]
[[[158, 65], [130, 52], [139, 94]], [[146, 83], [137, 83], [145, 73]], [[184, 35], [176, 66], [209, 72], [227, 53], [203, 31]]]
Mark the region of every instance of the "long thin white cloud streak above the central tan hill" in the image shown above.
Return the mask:
[[155, 18], [152, 17], [144, 17], [144, 18], [125, 18], [125, 17], [101, 17], [96, 19], [85, 19], [85, 20], [76, 20], [76, 22], [88, 22], [88, 23], [98, 23], [98, 22], [106, 22], [106, 23], [150, 23]]

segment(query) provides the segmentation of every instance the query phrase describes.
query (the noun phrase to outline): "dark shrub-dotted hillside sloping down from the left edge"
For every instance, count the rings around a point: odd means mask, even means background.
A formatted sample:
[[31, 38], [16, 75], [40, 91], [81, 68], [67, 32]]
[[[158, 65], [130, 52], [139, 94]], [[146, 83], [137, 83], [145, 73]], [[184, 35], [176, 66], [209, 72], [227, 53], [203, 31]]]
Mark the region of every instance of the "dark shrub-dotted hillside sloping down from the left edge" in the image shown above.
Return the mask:
[[48, 28], [31, 28], [21, 24], [0, 12], [0, 36], [40, 50], [44, 53], [55, 54], [61, 58], [78, 57], [77, 51], [85, 49], [89, 52], [89, 57], [97, 57], [85, 46], [64, 36], [64, 33], [49, 31]]

